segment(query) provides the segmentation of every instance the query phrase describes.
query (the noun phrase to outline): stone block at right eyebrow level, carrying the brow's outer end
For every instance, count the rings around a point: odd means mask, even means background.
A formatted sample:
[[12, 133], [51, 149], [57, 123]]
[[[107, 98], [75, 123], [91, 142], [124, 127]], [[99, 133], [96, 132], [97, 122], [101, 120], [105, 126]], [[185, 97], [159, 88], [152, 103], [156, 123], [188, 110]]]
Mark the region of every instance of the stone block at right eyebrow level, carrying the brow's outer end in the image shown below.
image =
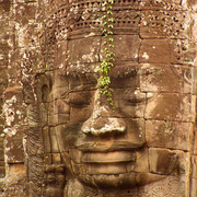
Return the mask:
[[190, 67], [143, 63], [139, 69], [140, 89], [144, 92], [192, 93]]

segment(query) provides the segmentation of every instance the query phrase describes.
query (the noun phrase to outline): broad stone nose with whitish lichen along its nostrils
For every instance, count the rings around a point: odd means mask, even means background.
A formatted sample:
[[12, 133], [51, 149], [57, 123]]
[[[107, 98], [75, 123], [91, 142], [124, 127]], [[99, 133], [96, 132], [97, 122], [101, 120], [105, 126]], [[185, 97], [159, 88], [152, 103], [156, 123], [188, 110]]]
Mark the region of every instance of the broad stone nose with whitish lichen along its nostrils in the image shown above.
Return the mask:
[[82, 125], [82, 132], [100, 136], [106, 132], [126, 131], [123, 118], [112, 116], [111, 106], [101, 103], [99, 91], [95, 92], [94, 107], [91, 117]]

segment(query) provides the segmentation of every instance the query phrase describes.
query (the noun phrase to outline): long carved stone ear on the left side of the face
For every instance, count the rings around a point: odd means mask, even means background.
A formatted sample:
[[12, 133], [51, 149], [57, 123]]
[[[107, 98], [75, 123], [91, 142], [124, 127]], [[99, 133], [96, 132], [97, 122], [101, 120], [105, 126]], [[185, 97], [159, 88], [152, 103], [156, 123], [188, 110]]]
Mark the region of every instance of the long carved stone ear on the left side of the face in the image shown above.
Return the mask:
[[[50, 95], [50, 77], [38, 73], [24, 84], [27, 131], [25, 136], [25, 160], [27, 171], [27, 194], [43, 196], [45, 184], [46, 150], [50, 150], [48, 128], [48, 102]], [[48, 177], [48, 176], [46, 176]]]

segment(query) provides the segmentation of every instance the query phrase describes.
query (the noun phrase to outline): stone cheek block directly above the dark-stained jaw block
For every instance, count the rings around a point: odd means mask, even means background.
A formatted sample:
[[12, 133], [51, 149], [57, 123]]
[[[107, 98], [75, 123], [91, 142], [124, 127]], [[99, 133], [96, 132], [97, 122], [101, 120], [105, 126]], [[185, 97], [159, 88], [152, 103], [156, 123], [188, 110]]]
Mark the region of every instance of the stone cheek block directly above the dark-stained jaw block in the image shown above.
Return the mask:
[[149, 147], [192, 149], [193, 124], [181, 121], [147, 120], [146, 141]]

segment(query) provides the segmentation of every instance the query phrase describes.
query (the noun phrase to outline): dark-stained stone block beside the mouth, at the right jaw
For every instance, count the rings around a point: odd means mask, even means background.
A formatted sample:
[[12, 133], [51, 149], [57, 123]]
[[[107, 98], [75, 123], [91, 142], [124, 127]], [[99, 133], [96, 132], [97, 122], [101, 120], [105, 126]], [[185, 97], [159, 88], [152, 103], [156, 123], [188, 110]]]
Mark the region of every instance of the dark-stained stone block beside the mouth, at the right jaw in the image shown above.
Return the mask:
[[150, 172], [163, 175], [188, 173], [189, 155], [170, 149], [149, 149]]

